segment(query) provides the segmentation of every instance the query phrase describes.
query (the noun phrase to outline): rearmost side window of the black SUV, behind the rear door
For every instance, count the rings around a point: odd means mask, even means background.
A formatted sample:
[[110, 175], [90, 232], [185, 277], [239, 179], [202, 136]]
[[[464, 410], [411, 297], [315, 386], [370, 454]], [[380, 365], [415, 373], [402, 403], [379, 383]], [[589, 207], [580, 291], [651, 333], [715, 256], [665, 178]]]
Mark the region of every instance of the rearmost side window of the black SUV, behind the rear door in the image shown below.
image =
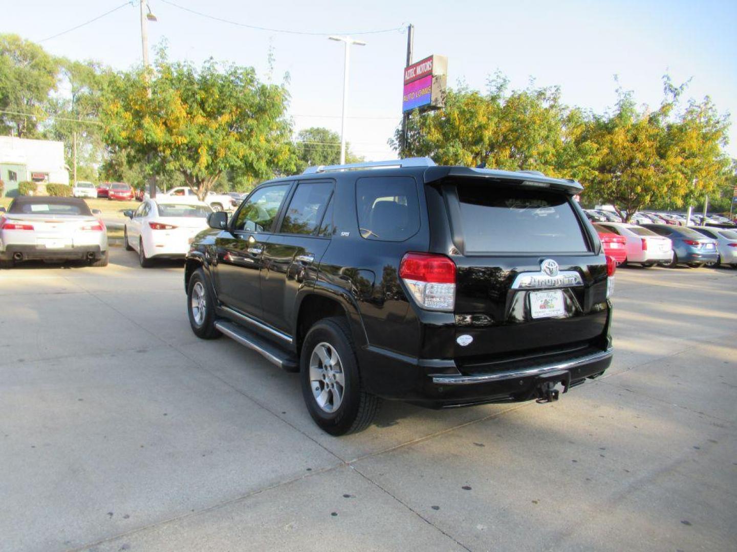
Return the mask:
[[367, 177], [356, 183], [361, 237], [403, 241], [419, 230], [417, 185], [411, 177]]

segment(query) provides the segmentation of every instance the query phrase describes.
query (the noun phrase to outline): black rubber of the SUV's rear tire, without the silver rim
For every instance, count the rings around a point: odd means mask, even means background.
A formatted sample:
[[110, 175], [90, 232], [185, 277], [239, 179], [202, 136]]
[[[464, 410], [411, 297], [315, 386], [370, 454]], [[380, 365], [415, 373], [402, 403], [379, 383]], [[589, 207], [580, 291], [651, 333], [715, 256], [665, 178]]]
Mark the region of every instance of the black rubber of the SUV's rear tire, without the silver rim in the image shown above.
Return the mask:
[[[312, 354], [316, 353], [317, 347], [327, 344], [332, 350], [338, 354], [338, 362], [340, 363], [340, 371], [332, 372], [335, 374], [342, 373], [343, 392], [338, 404], [338, 408], [333, 411], [326, 411], [325, 408], [318, 404], [318, 400], [312, 391], [312, 381], [310, 378], [310, 360]], [[307, 332], [302, 344], [300, 355], [300, 374], [299, 378], [302, 385], [302, 396], [307, 410], [315, 423], [320, 426], [323, 431], [331, 435], [345, 435], [356, 433], [366, 429], [374, 420], [379, 410], [381, 399], [363, 389], [363, 384], [358, 370], [358, 361], [356, 351], [351, 339], [351, 332], [346, 319], [341, 317], [325, 318], [315, 323]], [[326, 373], [327, 370], [324, 371]], [[330, 378], [330, 375], [326, 376]], [[335, 403], [335, 392], [329, 387], [329, 379], [325, 382], [315, 380], [318, 387], [315, 391], [322, 390], [328, 392], [332, 403]], [[335, 386], [338, 381], [333, 379]], [[322, 394], [321, 392], [321, 394]], [[326, 395], [328, 396], [328, 395]], [[326, 403], [326, 406], [332, 408]]]

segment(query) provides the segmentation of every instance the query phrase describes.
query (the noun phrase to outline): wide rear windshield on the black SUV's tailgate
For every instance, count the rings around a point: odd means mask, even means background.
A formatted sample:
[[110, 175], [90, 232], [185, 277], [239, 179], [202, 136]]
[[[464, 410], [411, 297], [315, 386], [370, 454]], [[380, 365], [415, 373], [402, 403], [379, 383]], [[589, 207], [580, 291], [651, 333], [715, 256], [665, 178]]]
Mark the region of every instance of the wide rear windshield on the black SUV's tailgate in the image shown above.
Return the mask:
[[564, 194], [488, 182], [458, 183], [456, 189], [466, 252], [588, 251]]

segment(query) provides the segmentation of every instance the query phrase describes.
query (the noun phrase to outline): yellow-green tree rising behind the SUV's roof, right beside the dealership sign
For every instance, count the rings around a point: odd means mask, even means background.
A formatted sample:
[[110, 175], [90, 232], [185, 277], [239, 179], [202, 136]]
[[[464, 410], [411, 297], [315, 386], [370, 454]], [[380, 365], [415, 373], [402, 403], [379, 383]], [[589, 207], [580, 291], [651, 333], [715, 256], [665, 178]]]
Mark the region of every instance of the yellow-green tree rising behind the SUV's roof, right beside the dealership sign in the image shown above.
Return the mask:
[[[586, 118], [562, 105], [558, 87], [509, 91], [501, 74], [483, 94], [461, 87], [448, 91], [446, 107], [413, 112], [403, 156], [428, 156], [437, 163], [537, 170], [580, 178], [593, 170], [595, 144], [581, 139]], [[399, 151], [401, 129], [390, 144]]]

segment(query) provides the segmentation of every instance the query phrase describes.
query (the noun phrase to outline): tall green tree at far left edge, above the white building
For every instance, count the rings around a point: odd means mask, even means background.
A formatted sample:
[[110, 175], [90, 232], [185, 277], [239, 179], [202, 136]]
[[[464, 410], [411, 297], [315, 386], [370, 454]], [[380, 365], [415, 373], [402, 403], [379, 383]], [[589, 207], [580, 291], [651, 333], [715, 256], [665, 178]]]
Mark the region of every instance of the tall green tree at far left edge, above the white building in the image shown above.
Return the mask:
[[59, 62], [18, 35], [0, 35], [0, 130], [35, 138], [43, 106], [56, 90]]

